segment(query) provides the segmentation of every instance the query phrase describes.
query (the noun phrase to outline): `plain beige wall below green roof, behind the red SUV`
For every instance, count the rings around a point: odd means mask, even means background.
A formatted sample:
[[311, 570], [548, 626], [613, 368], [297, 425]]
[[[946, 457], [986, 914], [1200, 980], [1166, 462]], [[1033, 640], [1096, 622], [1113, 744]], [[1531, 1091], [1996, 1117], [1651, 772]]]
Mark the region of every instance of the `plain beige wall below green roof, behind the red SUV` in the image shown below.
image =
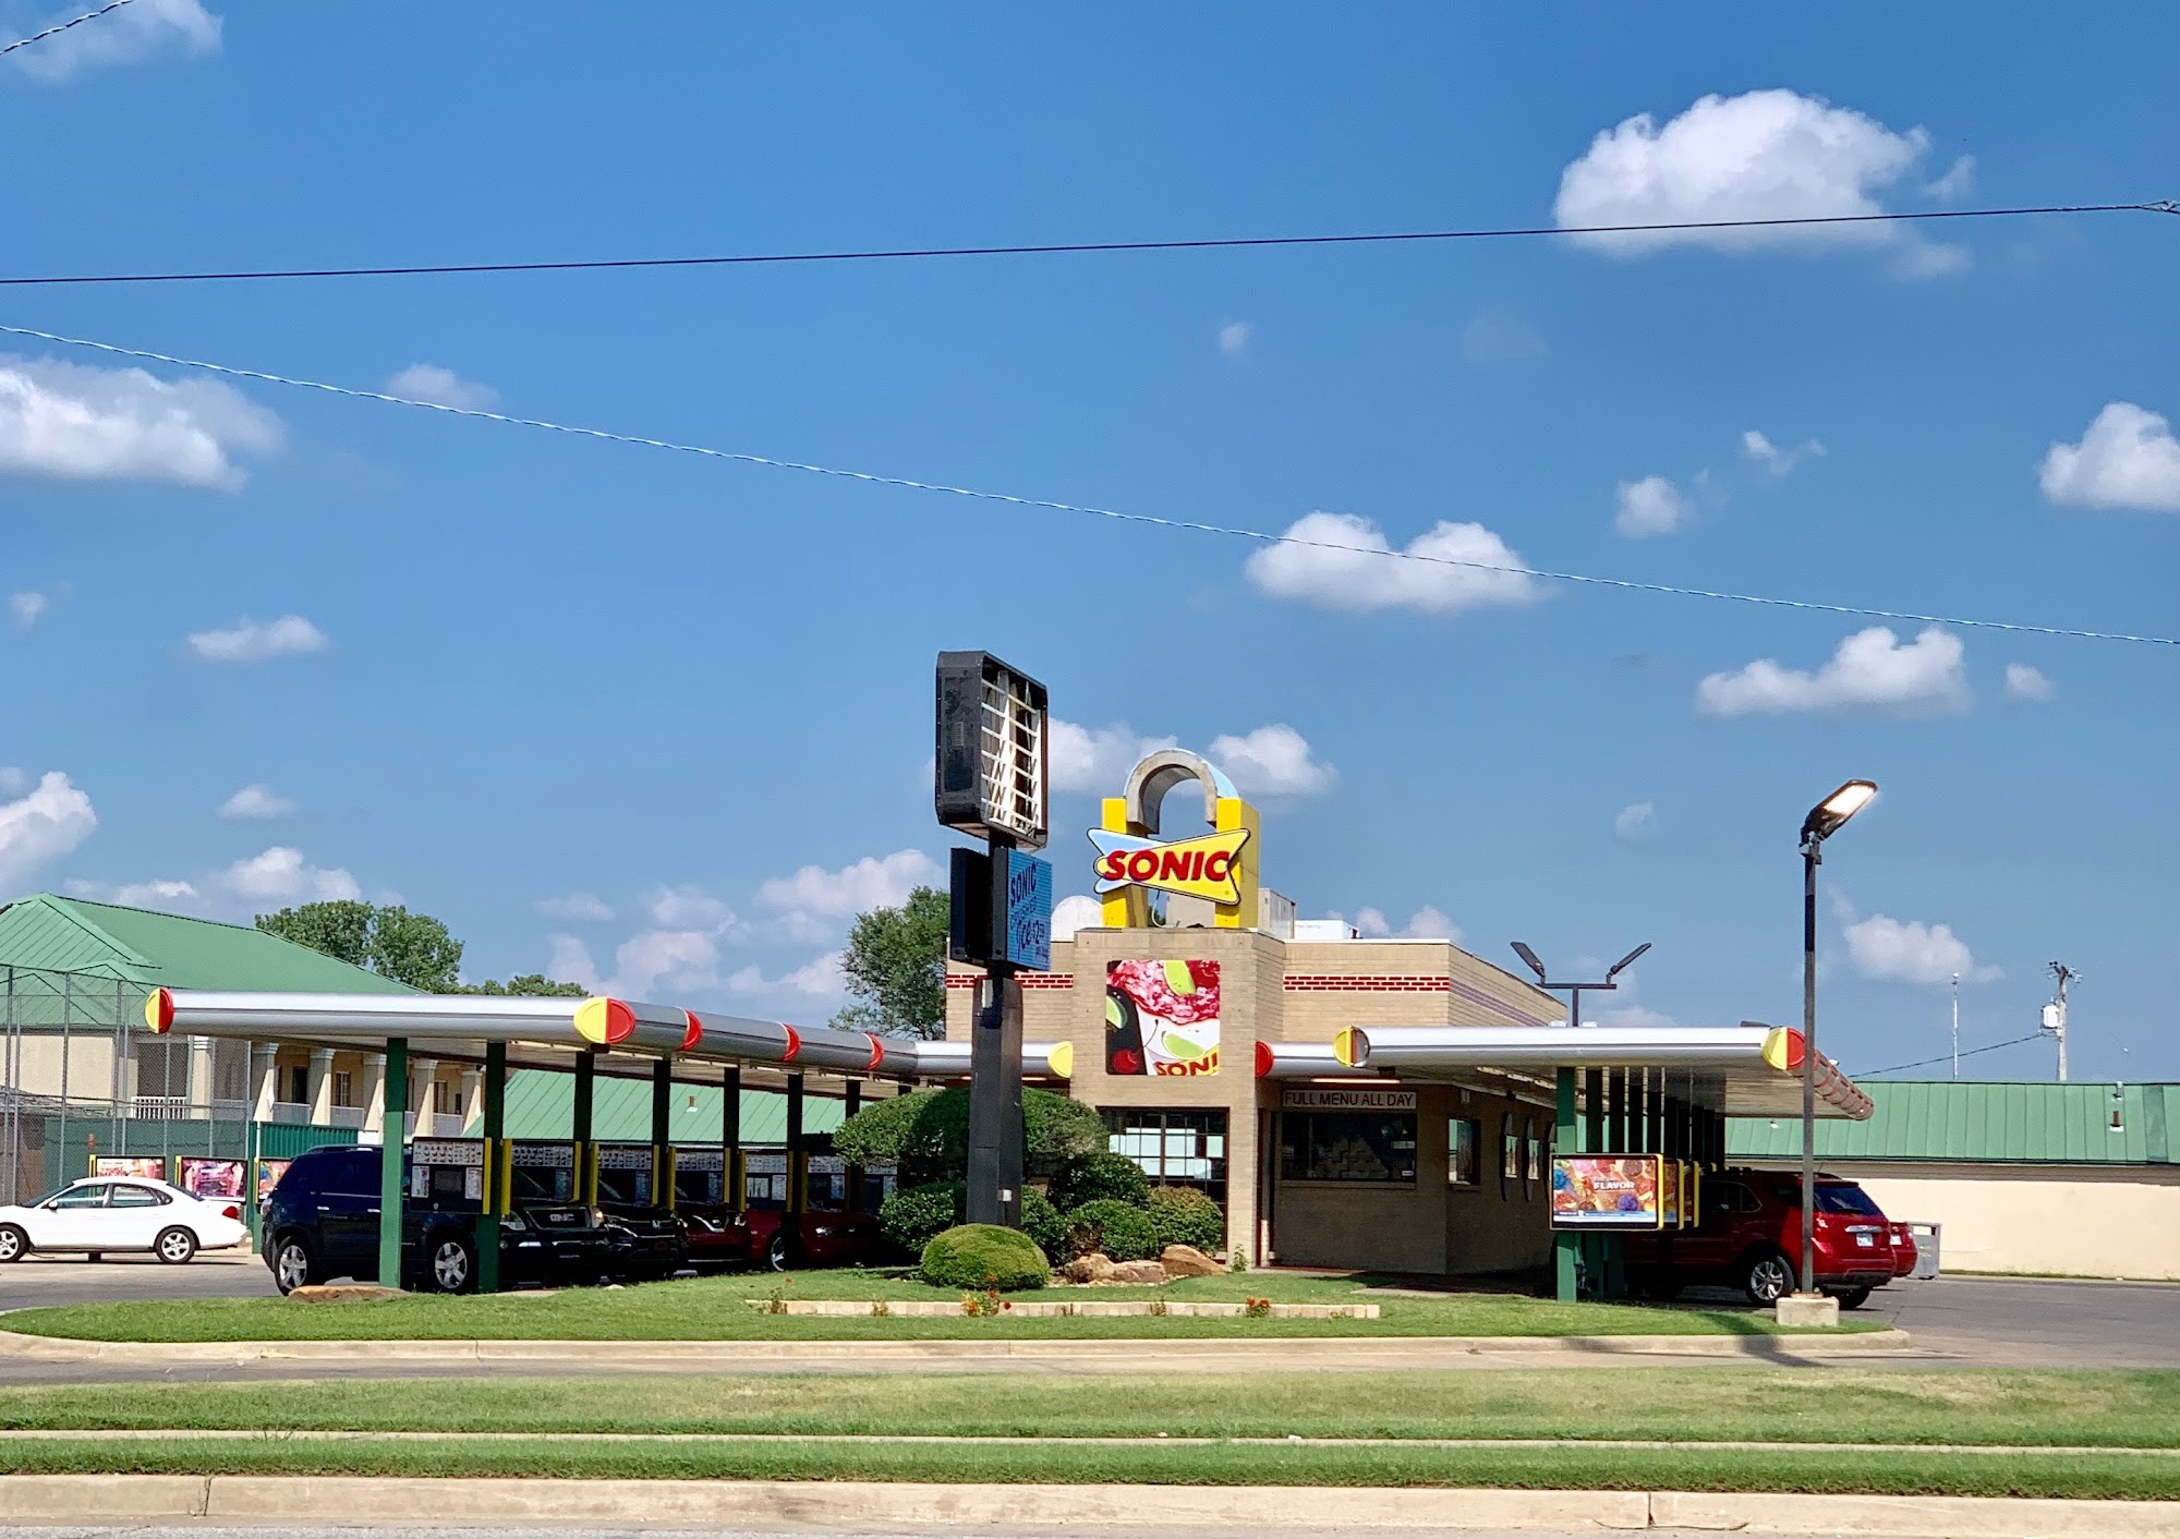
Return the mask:
[[1947, 1271], [2180, 1282], [2180, 1166], [1846, 1164], [1888, 1219], [1940, 1223]]

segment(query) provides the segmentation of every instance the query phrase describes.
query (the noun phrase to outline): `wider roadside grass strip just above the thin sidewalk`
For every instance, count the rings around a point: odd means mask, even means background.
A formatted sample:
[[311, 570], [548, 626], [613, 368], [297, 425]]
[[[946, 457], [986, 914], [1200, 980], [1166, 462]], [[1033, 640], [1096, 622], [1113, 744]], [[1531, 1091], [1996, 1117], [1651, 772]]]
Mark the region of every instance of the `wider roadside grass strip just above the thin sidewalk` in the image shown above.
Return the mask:
[[2180, 1447], [2180, 1371], [525, 1378], [486, 1393], [464, 1380], [0, 1389], [0, 1432], [135, 1428]]

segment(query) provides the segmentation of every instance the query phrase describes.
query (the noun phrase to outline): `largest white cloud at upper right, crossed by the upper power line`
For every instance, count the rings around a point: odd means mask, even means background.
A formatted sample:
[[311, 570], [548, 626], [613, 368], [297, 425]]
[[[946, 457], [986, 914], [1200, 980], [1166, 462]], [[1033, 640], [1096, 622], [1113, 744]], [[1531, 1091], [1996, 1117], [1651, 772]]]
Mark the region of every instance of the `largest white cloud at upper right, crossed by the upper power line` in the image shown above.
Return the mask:
[[[1881, 214], [1879, 194], [1929, 153], [1929, 133], [1894, 133], [1875, 118], [1785, 89], [1705, 96], [1659, 126], [1637, 113], [1600, 133], [1559, 177], [1561, 229], [1598, 225], [1698, 225], [1713, 220], [1833, 218]], [[1908, 275], [1962, 266], [1905, 225], [1790, 225], [1576, 235], [1611, 255], [1663, 246], [1711, 251], [1886, 249]]]

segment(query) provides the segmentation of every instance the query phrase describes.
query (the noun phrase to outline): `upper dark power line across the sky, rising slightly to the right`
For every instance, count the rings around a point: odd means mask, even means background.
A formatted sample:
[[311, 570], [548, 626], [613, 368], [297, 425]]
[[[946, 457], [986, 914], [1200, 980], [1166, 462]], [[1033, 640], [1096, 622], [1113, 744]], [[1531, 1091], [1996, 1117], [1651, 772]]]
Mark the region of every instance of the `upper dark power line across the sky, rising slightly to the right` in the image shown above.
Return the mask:
[[[116, 0], [126, 4], [129, 0]], [[107, 7], [109, 11], [113, 7]], [[100, 15], [94, 11], [92, 15]], [[89, 20], [89, 17], [78, 17]], [[74, 22], [70, 22], [74, 26]], [[55, 28], [59, 31], [59, 28]], [[44, 33], [41, 33], [44, 35]], [[26, 39], [35, 41], [35, 39]], [[17, 44], [20, 48], [22, 44]], [[872, 251], [770, 251], [724, 257], [600, 257], [591, 262], [432, 262], [386, 268], [255, 268], [233, 272], [74, 272], [55, 277], [0, 277], [0, 288], [59, 283], [222, 283], [242, 279], [305, 277], [432, 277], [475, 272], [606, 272], [621, 268], [732, 268], [809, 262], [918, 262], [931, 257], [1057, 257], [1121, 251], [1236, 251], [1249, 246], [1371, 246], [1419, 240], [1517, 240], [1528, 235], [1644, 235], [1703, 229], [1783, 229], [1805, 225], [1897, 225], [1910, 220], [1984, 220], [2030, 214], [2180, 214], [2171, 198], [2158, 203], [2054, 203], [2017, 209], [1921, 209], [1901, 214], [1807, 214], [1768, 220], [1679, 220], [1670, 225], [1535, 225], [1506, 229], [1404, 229], [1362, 235], [1227, 235], [1210, 240], [1088, 240], [1044, 246], [898, 246]]]

